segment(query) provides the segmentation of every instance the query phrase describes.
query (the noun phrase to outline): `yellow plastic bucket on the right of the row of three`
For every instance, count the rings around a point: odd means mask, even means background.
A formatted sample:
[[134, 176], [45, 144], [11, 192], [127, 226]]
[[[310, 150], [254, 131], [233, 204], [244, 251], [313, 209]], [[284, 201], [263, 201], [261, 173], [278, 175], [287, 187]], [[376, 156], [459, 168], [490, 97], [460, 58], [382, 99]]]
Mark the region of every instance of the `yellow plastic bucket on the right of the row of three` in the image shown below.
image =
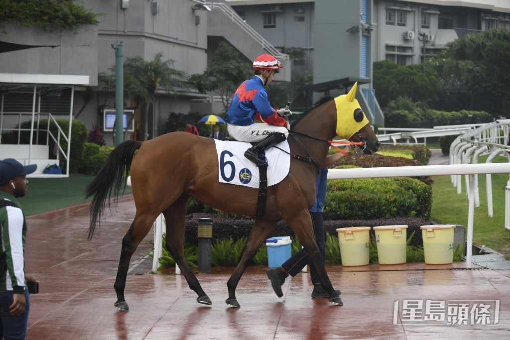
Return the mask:
[[427, 265], [453, 263], [453, 224], [422, 225], [423, 250]]

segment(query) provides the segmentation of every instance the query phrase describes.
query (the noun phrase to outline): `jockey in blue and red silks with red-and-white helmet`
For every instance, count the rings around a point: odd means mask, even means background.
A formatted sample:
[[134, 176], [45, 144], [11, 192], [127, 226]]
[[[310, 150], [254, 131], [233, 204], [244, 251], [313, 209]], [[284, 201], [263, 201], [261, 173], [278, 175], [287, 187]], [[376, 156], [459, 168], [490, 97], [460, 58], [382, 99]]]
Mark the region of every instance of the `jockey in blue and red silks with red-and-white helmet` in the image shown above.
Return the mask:
[[264, 151], [289, 136], [290, 125], [284, 117], [292, 115], [292, 112], [288, 108], [273, 109], [264, 89], [282, 67], [273, 56], [264, 54], [257, 57], [253, 62], [255, 75], [239, 86], [226, 112], [228, 133], [234, 139], [258, 142], [244, 153], [258, 167], [267, 166]]

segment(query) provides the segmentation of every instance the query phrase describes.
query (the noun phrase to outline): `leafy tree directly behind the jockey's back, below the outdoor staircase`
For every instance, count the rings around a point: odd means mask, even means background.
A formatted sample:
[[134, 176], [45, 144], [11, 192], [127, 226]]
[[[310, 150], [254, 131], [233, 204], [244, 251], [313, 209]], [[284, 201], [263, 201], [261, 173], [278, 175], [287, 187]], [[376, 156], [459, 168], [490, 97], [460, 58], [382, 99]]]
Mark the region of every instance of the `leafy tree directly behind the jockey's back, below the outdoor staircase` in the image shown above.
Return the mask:
[[190, 75], [188, 83], [200, 93], [219, 94], [226, 111], [237, 87], [249, 79], [251, 73], [250, 64], [241, 59], [234, 47], [222, 41], [218, 44], [207, 70], [202, 74]]

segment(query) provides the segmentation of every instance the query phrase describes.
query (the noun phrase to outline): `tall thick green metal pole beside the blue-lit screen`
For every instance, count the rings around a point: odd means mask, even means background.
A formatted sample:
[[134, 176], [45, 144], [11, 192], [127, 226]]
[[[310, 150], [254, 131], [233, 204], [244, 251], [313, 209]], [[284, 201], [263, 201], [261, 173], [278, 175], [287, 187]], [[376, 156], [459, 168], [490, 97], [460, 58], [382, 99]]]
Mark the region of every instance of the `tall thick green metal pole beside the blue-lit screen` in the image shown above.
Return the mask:
[[124, 45], [112, 44], [115, 50], [115, 145], [123, 142], [124, 121]]

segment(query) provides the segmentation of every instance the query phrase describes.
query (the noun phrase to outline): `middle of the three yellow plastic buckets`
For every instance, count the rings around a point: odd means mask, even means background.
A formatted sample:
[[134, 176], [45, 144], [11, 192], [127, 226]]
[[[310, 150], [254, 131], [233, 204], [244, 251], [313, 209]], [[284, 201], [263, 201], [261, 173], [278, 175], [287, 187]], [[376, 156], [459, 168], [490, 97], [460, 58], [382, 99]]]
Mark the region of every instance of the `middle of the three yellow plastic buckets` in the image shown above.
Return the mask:
[[400, 265], [406, 261], [406, 225], [382, 225], [373, 227], [377, 244], [379, 265]]

